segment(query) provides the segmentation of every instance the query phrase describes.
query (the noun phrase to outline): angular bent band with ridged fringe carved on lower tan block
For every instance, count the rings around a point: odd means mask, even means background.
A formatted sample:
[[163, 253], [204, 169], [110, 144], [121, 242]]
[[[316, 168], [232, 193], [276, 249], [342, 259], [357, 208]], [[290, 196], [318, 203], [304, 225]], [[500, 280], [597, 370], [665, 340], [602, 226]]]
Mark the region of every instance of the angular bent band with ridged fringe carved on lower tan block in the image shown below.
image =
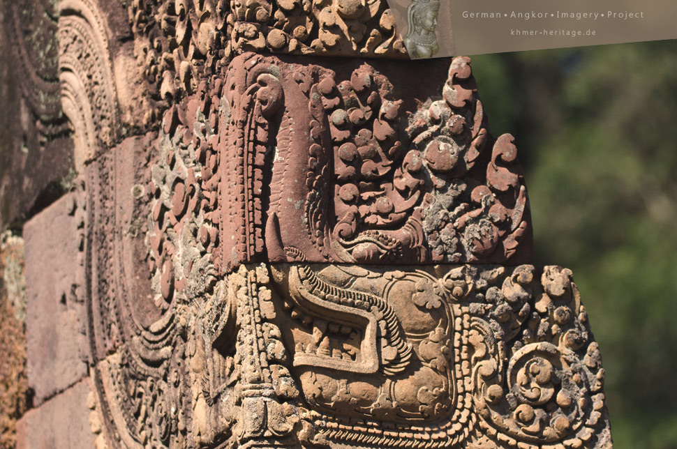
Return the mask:
[[[343, 321], [364, 330], [362, 361], [345, 363], [329, 359], [332, 363], [328, 363], [320, 360], [319, 356], [313, 356], [314, 365], [384, 374], [397, 374], [406, 369], [412, 348], [403, 336], [395, 312], [385, 299], [332, 285], [307, 265], [290, 269], [290, 296], [305, 312], [318, 319]], [[379, 340], [377, 349], [376, 342]], [[305, 364], [303, 359], [295, 359], [295, 365]]]

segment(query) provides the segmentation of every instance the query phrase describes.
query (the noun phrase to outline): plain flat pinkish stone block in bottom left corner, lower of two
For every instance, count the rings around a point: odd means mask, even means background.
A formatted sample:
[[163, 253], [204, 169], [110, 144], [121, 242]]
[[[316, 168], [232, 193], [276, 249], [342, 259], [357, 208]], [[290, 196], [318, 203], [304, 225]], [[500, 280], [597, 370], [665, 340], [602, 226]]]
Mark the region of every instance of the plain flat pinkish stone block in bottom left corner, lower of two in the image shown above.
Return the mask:
[[88, 394], [89, 379], [83, 379], [37, 409], [28, 411], [20, 421], [17, 449], [94, 448]]

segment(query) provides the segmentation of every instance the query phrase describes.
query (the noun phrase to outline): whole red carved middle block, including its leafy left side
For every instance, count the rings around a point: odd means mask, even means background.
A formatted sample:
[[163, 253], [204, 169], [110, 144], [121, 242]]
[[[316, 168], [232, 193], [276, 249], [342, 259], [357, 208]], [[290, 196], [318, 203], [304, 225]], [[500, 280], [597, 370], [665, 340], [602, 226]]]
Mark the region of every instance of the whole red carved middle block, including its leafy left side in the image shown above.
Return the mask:
[[179, 269], [186, 227], [214, 273], [257, 261], [532, 260], [516, 147], [487, 132], [468, 59], [429, 63], [418, 88], [419, 63], [322, 63], [244, 54], [224, 82], [165, 114], [156, 273]]

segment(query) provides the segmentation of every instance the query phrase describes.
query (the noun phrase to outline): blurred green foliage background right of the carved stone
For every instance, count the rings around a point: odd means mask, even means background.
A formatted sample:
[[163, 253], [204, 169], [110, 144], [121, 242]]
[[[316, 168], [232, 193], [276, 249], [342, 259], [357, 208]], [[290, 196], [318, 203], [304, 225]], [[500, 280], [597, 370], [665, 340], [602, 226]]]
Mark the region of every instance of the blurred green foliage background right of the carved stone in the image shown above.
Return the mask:
[[516, 137], [537, 264], [571, 268], [616, 449], [677, 448], [677, 40], [473, 57]]

